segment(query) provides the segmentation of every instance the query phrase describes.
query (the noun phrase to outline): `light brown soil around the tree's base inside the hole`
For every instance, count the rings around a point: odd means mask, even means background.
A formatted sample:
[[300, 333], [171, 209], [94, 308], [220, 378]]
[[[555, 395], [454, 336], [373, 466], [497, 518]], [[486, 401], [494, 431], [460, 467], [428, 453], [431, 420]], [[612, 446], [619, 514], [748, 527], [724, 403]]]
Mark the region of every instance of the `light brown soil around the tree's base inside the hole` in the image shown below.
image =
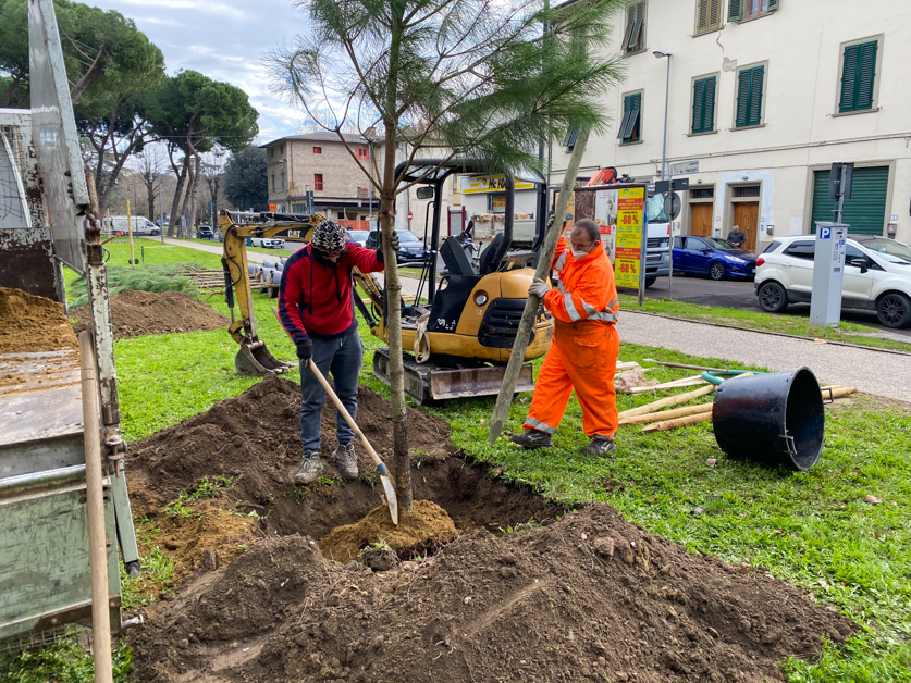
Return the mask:
[[456, 535], [455, 524], [443, 508], [430, 500], [415, 500], [411, 510], [398, 511], [397, 526], [383, 505], [354, 524], [336, 526], [319, 542], [319, 546], [328, 559], [345, 563], [360, 559], [360, 550], [379, 541], [399, 554], [417, 546], [444, 545]]

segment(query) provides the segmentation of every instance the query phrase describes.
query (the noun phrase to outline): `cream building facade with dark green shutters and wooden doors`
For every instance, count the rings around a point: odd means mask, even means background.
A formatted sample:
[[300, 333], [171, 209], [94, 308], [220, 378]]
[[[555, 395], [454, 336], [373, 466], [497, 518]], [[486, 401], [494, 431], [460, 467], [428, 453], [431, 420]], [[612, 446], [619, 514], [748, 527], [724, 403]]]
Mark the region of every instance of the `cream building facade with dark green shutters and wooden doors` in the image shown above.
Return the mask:
[[[635, 0], [616, 26], [607, 50], [626, 76], [580, 177], [660, 179], [666, 96], [665, 177], [690, 181], [675, 234], [738, 224], [762, 251], [812, 233], [833, 220], [832, 164], [853, 162], [850, 232], [911, 243], [911, 2]], [[574, 141], [552, 147], [552, 183]]]

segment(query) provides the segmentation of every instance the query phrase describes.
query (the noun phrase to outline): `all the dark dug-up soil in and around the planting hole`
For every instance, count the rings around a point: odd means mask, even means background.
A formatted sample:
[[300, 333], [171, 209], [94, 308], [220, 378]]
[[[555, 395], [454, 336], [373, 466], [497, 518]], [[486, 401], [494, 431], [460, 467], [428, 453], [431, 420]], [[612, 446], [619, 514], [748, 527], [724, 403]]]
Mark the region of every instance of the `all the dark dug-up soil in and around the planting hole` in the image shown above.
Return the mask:
[[[236, 484], [219, 500], [264, 516], [239, 557], [214, 571], [209, 562], [148, 609], [130, 636], [134, 681], [758, 683], [855, 629], [804, 591], [688, 555], [610, 506], [555, 521], [561, 510], [527, 487], [452, 455], [446, 423], [418, 411], [415, 499], [435, 501], [463, 535], [421, 562], [385, 558], [389, 571], [327, 560], [317, 542], [334, 527], [387, 512], [368, 479], [291, 485], [299, 401], [296, 384], [268, 377], [133, 447], [138, 514], [159, 516], [221, 473]], [[364, 387], [359, 401], [358, 422], [383, 455], [389, 403]], [[323, 456], [334, 425], [327, 407]], [[532, 518], [543, 526], [483, 531]]]

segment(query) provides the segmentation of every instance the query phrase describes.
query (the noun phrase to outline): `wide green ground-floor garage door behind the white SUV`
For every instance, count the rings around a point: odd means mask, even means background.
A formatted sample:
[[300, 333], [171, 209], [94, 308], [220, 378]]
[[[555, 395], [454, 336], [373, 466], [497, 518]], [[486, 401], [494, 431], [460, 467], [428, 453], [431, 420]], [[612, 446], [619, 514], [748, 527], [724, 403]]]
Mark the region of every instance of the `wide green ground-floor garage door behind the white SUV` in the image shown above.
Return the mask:
[[[813, 183], [813, 223], [810, 232], [816, 232], [816, 221], [832, 221], [835, 200], [828, 198], [829, 170], [816, 171]], [[842, 222], [849, 232], [861, 235], [883, 235], [886, 227], [886, 193], [889, 186], [889, 167], [872, 166], [854, 169], [851, 198], [845, 201]]]

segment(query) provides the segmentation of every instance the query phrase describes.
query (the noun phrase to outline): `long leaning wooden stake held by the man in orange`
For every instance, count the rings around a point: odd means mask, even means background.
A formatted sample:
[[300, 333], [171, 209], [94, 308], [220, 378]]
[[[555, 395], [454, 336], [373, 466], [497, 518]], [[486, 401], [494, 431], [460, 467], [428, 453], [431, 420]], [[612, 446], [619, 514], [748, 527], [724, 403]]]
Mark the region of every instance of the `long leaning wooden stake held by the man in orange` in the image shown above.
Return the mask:
[[[586, 153], [588, 141], [589, 132], [582, 128], [576, 138], [576, 146], [573, 148], [573, 154], [569, 157], [569, 164], [566, 167], [563, 184], [559, 187], [559, 198], [554, 208], [554, 224], [544, 236], [544, 244], [541, 247], [541, 253], [538, 259], [538, 268], [534, 269], [534, 276], [544, 281], [546, 281], [551, 272], [551, 264], [554, 261], [554, 253], [556, 253], [556, 244], [563, 234], [564, 216], [566, 215], [566, 209], [569, 207], [569, 197], [576, 187], [576, 176], [579, 173], [579, 166], [582, 163], [582, 156]], [[532, 294], [528, 295], [528, 299], [525, 302], [525, 311], [522, 312], [521, 321], [519, 321], [519, 327], [516, 330], [516, 338], [513, 342], [509, 362], [503, 375], [503, 383], [500, 385], [500, 394], [496, 396], [496, 405], [493, 407], [493, 415], [491, 417], [490, 431], [488, 433], [488, 443], [491, 446], [496, 443], [497, 437], [503, 432], [503, 425], [506, 424], [506, 418], [509, 414], [509, 407], [513, 405], [513, 396], [516, 392], [516, 383], [519, 381], [519, 373], [525, 362], [525, 351], [528, 348], [528, 340], [531, 338], [531, 328], [538, 318], [538, 307], [540, 305], [540, 298]]]

